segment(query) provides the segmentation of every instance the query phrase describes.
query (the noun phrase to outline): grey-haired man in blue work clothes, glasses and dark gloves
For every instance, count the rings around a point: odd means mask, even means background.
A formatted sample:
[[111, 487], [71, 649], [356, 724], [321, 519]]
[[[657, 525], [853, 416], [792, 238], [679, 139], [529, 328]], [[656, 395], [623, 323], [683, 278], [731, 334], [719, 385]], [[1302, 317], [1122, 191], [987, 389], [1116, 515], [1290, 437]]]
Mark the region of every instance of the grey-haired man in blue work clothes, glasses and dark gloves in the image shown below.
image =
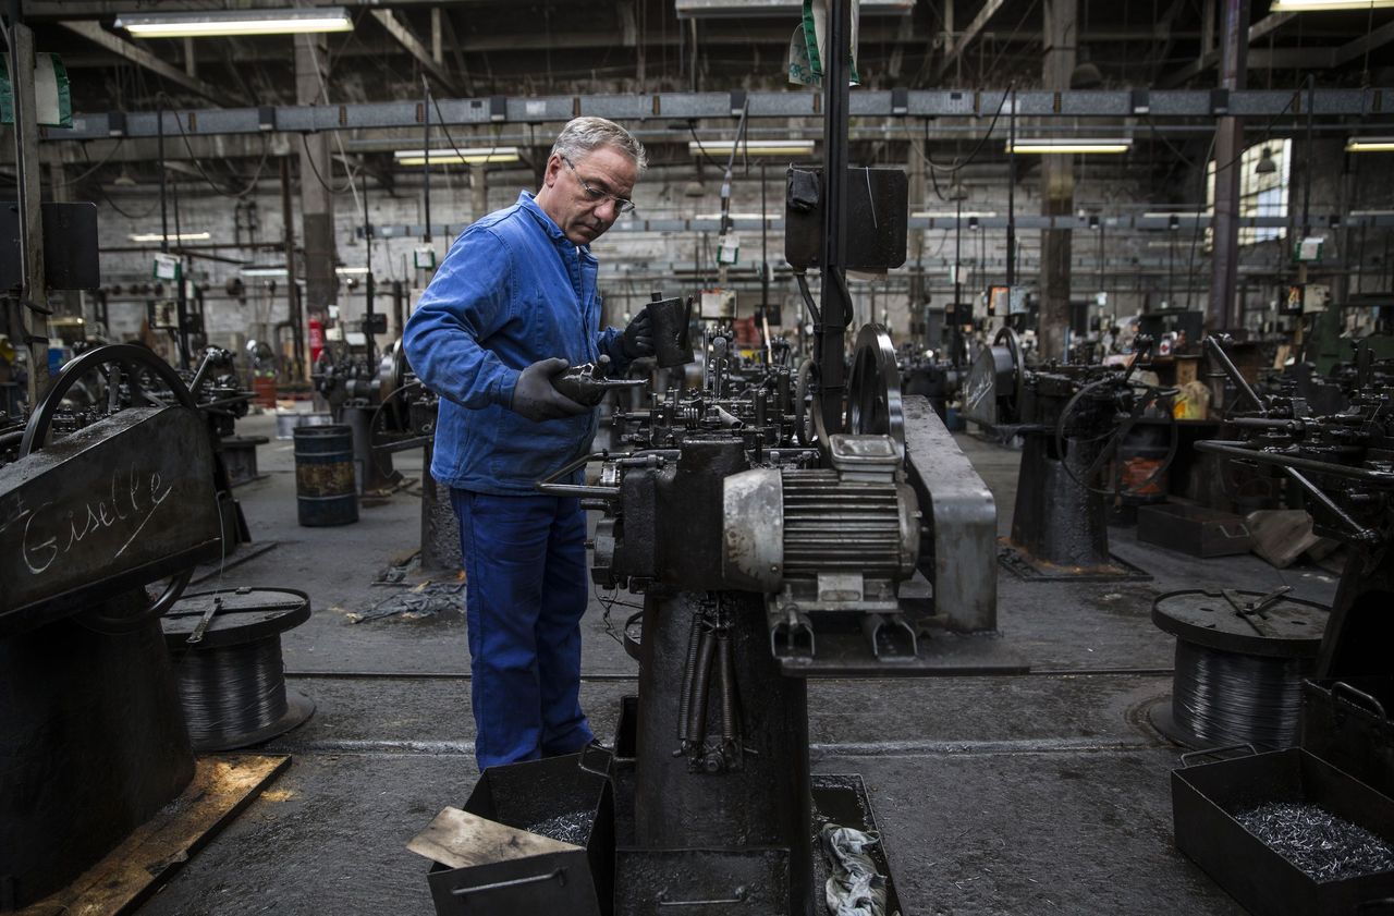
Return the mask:
[[551, 378], [654, 351], [647, 312], [599, 329], [590, 251], [633, 209], [644, 166], [620, 125], [570, 121], [538, 192], [466, 229], [407, 322], [407, 360], [442, 399], [431, 474], [460, 520], [480, 770], [594, 740], [579, 699], [585, 514], [533, 484], [590, 450], [598, 425]]

